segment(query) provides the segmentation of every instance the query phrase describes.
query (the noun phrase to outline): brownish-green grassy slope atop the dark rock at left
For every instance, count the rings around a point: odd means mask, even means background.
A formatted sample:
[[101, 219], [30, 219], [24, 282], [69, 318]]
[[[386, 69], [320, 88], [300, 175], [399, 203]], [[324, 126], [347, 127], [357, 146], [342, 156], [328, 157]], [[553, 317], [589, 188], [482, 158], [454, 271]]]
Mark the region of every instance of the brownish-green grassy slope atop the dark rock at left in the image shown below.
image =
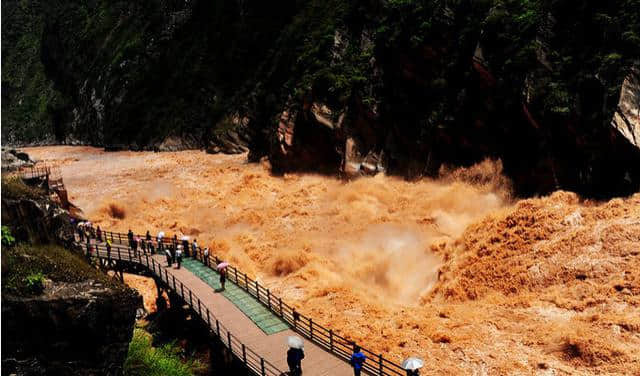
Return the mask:
[[34, 296], [42, 292], [44, 279], [54, 282], [100, 281], [118, 288], [121, 285], [87, 264], [82, 255], [57, 245], [19, 244], [3, 247], [7, 272], [2, 276], [2, 294]]

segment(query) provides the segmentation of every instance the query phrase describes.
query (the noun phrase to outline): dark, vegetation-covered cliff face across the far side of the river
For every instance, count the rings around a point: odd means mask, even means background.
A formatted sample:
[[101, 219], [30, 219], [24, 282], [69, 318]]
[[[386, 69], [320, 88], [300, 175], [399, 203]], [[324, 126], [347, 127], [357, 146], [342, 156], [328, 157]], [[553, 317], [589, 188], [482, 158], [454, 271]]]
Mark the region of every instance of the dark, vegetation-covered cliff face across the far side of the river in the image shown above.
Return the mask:
[[[637, 127], [623, 135], [611, 122], [621, 92], [637, 91], [623, 89], [640, 58], [636, 10], [635, 0], [7, 1], [3, 137], [249, 149], [276, 172], [347, 176], [434, 176], [493, 157], [522, 194], [624, 194], [640, 187], [640, 153], [624, 137]], [[622, 97], [617, 113], [633, 113]]]

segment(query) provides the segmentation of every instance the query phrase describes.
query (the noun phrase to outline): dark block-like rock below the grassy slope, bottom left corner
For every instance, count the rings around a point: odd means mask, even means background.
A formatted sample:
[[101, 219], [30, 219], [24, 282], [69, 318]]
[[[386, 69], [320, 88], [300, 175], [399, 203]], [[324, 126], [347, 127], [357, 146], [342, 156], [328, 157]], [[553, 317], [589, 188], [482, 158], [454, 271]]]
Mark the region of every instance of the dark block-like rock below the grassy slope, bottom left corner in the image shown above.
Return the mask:
[[140, 296], [97, 281], [47, 285], [2, 296], [3, 374], [121, 375]]

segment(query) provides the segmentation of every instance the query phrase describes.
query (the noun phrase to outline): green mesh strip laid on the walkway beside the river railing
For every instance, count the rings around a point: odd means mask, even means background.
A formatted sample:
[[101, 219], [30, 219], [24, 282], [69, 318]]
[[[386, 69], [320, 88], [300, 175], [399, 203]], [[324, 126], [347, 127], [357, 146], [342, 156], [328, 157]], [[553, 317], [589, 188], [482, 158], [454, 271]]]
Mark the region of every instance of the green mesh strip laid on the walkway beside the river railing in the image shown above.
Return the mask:
[[[202, 264], [200, 261], [185, 258], [182, 266], [198, 276], [209, 286], [219, 290], [220, 275]], [[238, 307], [247, 317], [251, 319], [266, 334], [274, 334], [289, 329], [289, 326], [278, 316], [269, 311], [265, 306], [258, 302], [249, 293], [238, 287], [236, 284], [229, 282], [225, 284], [225, 291], [220, 292], [225, 298], [229, 299], [236, 307]]]

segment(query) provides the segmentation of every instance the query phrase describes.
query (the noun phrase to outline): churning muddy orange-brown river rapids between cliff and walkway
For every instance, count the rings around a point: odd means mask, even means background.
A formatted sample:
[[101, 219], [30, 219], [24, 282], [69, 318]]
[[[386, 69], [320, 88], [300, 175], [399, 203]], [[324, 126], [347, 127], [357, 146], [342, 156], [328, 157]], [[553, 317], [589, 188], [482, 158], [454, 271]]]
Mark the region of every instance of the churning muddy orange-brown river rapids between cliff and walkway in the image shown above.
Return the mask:
[[640, 194], [515, 201], [499, 162], [407, 182], [246, 156], [31, 148], [103, 228], [186, 234], [301, 312], [437, 374], [640, 373]]

